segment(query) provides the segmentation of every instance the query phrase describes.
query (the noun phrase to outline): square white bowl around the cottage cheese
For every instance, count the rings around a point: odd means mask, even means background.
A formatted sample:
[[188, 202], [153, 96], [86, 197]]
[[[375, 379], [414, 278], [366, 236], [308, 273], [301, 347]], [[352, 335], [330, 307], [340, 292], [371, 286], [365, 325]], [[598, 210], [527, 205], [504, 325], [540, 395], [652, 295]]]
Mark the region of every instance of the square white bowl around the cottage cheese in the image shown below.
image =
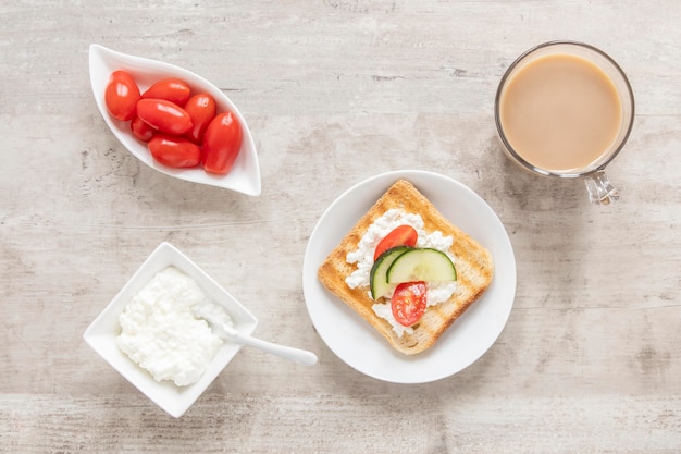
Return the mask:
[[171, 266], [194, 278], [209, 299], [223, 306], [232, 317], [234, 328], [237, 331], [244, 334], [252, 334], [258, 326], [258, 319], [184, 254], [169, 243], [161, 243], [104, 310], [92, 321], [85, 331], [83, 339], [135, 388], [169, 415], [178, 418], [199, 398], [225, 366], [230, 364], [242, 348], [242, 345], [226, 341], [220, 347], [200, 380], [187, 386], [177, 386], [172, 381], [156, 381], [149, 372], [140, 368], [119, 349], [115, 344], [115, 339], [121, 333], [119, 316], [125, 310], [125, 306], [131, 299], [159, 271]]

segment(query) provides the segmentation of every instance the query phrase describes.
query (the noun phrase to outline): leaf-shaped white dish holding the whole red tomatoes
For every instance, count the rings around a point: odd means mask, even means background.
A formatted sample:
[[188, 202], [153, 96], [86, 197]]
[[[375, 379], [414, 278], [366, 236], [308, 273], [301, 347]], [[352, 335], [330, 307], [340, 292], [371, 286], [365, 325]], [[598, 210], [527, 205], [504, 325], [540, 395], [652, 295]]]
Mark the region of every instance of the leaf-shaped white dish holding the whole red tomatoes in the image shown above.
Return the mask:
[[[92, 86], [92, 94], [101, 115], [121, 144], [137, 159], [152, 169], [176, 179], [224, 187], [249, 196], [260, 195], [260, 167], [253, 137], [237, 107], [218, 87], [183, 68], [157, 60], [115, 52], [99, 45], [90, 45], [89, 65], [90, 85]], [[205, 172], [200, 167], [195, 169], [173, 169], [153, 160], [147, 149], [147, 144], [133, 136], [129, 122], [114, 119], [107, 110], [104, 90], [109, 83], [109, 76], [116, 70], [127, 71], [135, 78], [140, 91], [145, 91], [151, 84], [162, 78], [181, 78], [189, 85], [193, 94], [207, 93], [211, 95], [218, 105], [218, 112], [232, 111], [242, 123], [244, 138], [239, 156], [236, 158], [230, 173], [226, 175], [214, 175]]]

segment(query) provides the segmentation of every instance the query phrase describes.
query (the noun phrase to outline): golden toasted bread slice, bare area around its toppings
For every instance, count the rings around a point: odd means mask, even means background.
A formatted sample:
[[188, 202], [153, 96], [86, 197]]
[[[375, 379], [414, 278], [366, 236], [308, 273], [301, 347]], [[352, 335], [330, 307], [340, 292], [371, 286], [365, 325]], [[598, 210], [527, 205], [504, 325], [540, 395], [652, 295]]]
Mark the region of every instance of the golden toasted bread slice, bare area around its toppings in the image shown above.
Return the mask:
[[[429, 306], [423, 317], [411, 327], [413, 332], [405, 332], [401, 336], [373, 311], [372, 306], [376, 302], [370, 297], [369, 287], [350, 289], [345, 281], [356, 269], [355, 263], [346, 261], [346, 256], [357, 249], [359, 241], [374, 220], [393, 208], [420, 214], [429, 233], [439, 231], [454, 237], [449, 253], [455, 257], [458, 281], [457, 290], [448, 300]], [[395, 349], [405, 355], [416, 355], [433, 346], [451, 323], [483, 294], [492, 282], [493, 273], [494, 265], [490, 251], [445, 219], [411, 183], [399, 180], [329, 254], [319, 268], [318, 278], [332, 294], [375, 328]]]

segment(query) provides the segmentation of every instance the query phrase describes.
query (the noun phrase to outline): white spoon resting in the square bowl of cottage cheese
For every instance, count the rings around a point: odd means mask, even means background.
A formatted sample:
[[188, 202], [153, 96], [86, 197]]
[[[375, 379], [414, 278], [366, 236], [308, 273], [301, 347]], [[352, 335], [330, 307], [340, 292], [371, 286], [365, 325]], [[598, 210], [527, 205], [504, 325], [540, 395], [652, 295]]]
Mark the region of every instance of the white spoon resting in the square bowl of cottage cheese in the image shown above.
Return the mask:
[[260, 348], [263, 352], [280, 356], [285, 359], [289, 359], [304, 366], [314, 366], [317, 364], [317, 355], [314, 355], [312, 352], [274, 344], [272, 342], [251, 338], [248, 334], [240, 333], [239, 331], [235, 330], [230, 324], [221, 320], [218, 314], [212, 314], [211, 310], [206, 307], [206, 305], [195, 306], [193, 310], [197, 317], [200, 317], [203, 320], [208, 321], [211, 328], [215, 329], [219, 335], [222, 334], [221, 336], [223, 339], [234, 341], [242, 345], [250, 345], [251, 347]]

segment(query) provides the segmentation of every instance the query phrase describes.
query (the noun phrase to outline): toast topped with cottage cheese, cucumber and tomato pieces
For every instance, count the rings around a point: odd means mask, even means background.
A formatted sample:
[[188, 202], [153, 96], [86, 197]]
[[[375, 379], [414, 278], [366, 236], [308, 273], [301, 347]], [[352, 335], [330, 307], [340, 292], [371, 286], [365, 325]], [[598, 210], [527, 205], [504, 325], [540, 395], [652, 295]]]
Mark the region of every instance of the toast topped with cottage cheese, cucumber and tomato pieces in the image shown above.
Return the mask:
[[405, 355], [433, 346], [493, 274], [490, 251], [406, 180], [381, 196], [318, 271], [332, 294]]

